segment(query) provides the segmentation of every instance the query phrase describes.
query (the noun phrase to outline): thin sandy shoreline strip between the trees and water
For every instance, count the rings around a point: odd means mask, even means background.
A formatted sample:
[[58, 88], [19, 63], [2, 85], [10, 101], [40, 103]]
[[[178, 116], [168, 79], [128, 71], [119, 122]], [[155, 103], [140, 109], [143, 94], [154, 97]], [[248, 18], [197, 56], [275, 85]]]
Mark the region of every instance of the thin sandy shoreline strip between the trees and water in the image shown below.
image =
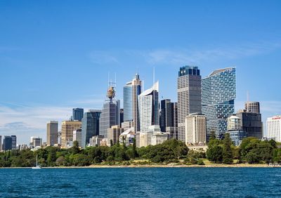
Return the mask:
[[[32, 167], [0, 167], [0, 169], [31, 169]], [[281, 168], [268, 164], [208, 164], [208, 165], [90, 165], [90, 166], [53, 166], [41, 169], [117, 169], [117, 168]]]

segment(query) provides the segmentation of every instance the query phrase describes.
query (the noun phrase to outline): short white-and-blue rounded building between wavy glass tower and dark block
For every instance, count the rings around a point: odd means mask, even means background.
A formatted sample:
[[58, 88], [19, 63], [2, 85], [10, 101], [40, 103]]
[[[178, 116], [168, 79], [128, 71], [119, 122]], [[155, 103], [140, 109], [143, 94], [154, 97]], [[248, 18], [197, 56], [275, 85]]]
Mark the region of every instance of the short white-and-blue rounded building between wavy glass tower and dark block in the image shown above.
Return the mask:
[[233, 145], [239, 146], [242, 143], [243, 138], [247, 137], [247, 132], [243, 131], [242, 119], [236, 115], [228, 117], [228, 131], [230, 139]]

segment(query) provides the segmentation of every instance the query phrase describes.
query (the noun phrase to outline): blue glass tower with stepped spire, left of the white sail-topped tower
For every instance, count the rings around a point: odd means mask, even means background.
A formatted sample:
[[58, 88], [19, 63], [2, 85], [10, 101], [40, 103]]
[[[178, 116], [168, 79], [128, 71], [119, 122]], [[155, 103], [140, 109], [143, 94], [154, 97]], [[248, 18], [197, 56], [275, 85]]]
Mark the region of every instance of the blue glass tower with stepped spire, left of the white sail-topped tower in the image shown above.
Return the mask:
[[124, 121], [132, 122], [135, 132], [140, 130], [138, 95], [141, 94], [142, 81], [138, 74], [123, 88]]

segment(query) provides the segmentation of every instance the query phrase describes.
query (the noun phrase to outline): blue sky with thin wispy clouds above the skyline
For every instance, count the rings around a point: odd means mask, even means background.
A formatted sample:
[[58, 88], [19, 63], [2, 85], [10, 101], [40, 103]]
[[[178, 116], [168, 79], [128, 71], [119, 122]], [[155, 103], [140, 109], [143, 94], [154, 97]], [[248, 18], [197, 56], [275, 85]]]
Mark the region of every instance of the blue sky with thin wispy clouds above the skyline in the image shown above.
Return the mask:
[[281, 1], [0, 1], [0, 135], [46, 140], [72, 107], [100, 109], [136, 72], [176, 101], [179, 67], [237, 67], [236, 109], [281, 114]]

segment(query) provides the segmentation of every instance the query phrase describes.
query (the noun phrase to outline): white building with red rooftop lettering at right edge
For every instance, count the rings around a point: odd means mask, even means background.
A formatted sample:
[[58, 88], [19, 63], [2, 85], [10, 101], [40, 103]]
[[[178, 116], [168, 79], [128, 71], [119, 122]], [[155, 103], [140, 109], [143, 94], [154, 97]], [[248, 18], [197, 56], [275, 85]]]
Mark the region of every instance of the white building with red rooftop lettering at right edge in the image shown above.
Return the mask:
[[268, 138], [281, 143], [281, 116], [269, 117], [266, 121]]

